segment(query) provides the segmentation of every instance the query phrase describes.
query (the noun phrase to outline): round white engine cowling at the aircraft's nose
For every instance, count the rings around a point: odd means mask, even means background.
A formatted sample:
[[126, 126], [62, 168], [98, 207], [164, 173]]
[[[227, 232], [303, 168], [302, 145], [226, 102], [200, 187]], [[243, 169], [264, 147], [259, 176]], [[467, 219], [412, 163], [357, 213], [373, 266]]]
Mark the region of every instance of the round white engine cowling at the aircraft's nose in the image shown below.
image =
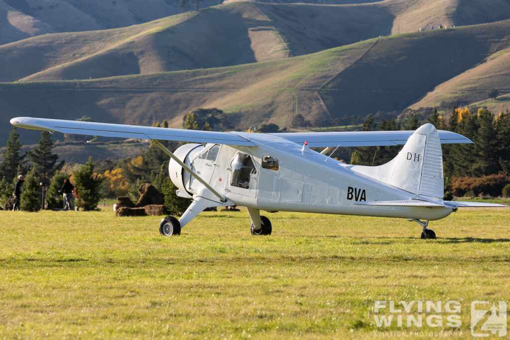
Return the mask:
[[[178, 147], [173, 154], [181, 160], [181, 162], [191, 168], [193, 160], [201, 150], [203, 150], [202, 144], [190, 143]], [[179, 189], [176, 192], [177, 196], [191, 198], [194, 194], [193, 192], [190, 192], [189, 188], [191, 174], [184, 170], [183, 167], [173, 159], [170, 160], [170, 164], [168, 165], [168, 174], [170, 175], [170, 179], [173, 184]]]

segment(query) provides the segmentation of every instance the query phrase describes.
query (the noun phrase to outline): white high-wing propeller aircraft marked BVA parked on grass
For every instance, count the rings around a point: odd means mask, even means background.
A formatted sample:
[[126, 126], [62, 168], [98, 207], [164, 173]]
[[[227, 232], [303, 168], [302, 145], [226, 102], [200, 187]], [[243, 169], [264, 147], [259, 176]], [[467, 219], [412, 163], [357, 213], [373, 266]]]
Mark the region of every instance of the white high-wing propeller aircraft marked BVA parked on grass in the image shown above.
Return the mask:
[[[271, 234], [268, 212], [291, 211], [406, 218], [422, 227], [422, 239], [436, 238], [427, 229], [456, 207], [504, 206], [493, 203], [443, 201], [441, 143], [472, 143], [464, 136], [432, 124], [416, 131], [275, 133], [211, 132], [164, 127], [17, 117], [11, 124], [50, 132], [152, 140], [171, 158], [169, 175], [192, 198], [177, 220], [165, 217], [160, 233], [181, 229], [208, 207], [245, 206], [251, 233]], [[191, 142], [172, 153], [159, 140]], [[405, 144], [389, 163], [348, 165], [327, 153], [338, 146]], [[309, 147], [325, 147], [316, 152]]]

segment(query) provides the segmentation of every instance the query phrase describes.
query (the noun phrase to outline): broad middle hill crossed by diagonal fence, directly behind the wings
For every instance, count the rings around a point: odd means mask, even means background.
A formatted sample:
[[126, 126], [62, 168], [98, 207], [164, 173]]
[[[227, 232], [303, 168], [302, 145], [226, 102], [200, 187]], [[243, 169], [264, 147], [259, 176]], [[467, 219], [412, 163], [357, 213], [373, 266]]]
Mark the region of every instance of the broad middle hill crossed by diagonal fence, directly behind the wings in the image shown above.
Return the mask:
[[[343, 115], [403, 110], [432, 89], [483, 65], [508, 69], [510, 20], [375, 38], [315, 54], [230, 67], [99, 80], [0, 84], [10, 117], [75, 119], [179, 127], [197, 108], [218, 107], [236, 128], [289, 126], [301, 113], [316, 125]], [[505, 76], [502, 75], [502, 84]], [[503, 93], [502, 93], [503, 94]], [[38, 137], [37, 137], [38, 138]]]

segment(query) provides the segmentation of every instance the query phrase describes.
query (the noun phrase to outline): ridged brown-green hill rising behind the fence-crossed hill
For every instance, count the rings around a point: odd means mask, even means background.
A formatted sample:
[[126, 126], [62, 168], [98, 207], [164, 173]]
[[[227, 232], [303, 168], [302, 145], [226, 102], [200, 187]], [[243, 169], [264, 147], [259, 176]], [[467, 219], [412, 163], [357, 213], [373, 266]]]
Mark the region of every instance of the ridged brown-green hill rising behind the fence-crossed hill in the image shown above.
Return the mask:
[[[238, 2], [122, 29], [44, 35], [0, 46], [0, 63], [6, 65], [0, 69], [0, 81], [97, 79], [239, 65], [451, 25], [455, 16], [463, 23], [510, 17], [510, 3], [495, 0], [491, 6], [492, 17], [478, 17], [468, 11], [476, 9], [476, 3], [453, 0], [354, 5]], [[458, 8], [464, 14], [455, 14]]]

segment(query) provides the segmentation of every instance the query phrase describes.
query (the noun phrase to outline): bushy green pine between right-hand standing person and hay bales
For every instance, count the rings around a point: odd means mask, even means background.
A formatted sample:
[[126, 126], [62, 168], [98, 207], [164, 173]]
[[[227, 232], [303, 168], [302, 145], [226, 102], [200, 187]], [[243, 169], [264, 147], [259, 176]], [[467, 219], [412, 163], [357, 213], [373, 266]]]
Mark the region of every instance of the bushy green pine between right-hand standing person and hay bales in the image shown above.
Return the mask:
[[84, 211], [97, 210], [97, 203], [101, 199], [103, 177], [94, 174], [92, 157], [80, 169], [72, 172], [75, 186], [78, 191], [79, 203]]

